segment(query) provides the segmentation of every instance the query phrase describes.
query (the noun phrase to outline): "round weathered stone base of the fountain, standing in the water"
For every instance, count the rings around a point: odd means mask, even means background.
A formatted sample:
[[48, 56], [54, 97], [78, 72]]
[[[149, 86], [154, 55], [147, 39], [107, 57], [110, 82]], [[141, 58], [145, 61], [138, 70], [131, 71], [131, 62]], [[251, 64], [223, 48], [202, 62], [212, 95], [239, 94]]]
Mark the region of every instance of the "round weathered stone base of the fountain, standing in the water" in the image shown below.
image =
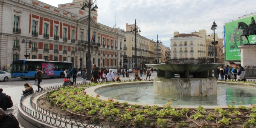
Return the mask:
[[154, 93], [177, 97], [206, 97], [217, 94], [217, 81], [209, 78], [155, 77]]

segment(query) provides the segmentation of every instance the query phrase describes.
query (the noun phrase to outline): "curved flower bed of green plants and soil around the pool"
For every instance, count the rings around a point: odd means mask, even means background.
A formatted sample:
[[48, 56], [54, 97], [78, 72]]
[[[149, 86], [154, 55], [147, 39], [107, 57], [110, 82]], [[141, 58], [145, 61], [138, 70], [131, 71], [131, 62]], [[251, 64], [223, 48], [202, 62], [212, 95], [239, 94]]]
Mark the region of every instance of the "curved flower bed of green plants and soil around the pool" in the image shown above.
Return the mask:
[[[88, 96], [82, 88], [61, 88], [41, 96], [37, 104], [45, 110], [58, 113], [58, 116], [62, 114], [62, 117], [66, 115], [68, 119], [76, 118], [78, 122], [83, 121], [84, 124], [87, 123], [84, 120], [89, 120], [89, 124], [93, 125], [93, 119], [97, 118], [96, 125], [103, 124], [105, 128], [109, 128], [109, 123], [112, 124], [112, 128], [116, 128], [117, 125], [120, 128], [126, 128], [125, 126], [129, 128], [255, 128], [256, 125], [256, 113], [254, 113], [256, 106], [252, 106], [250, 110], [236, 108], [236, 112], [240, 112], [240, 115], [235, 115], [235, 112], [229, 108], [216, 110], [205, 110], [201, 106], [198, 109], [172, 108], [171, 101], [163, 107], [139, 106], [119, 104], [110, 98], [108, 101], [102, 101], [98, 97]], [[118, 109], [119, 114], [111, 113], [114, 109]], [[92, 113], [93, 110], [96, 111]], [[220, 115], [220, 111], [224, 115]], [[207, 120], [209, 118], [212, 120]], [[222, 122], [219, 122], [221, 120]], [[244, 125], [244, 122], [248, 126]], [[146, 124], [148, 126], [145, 126]]]

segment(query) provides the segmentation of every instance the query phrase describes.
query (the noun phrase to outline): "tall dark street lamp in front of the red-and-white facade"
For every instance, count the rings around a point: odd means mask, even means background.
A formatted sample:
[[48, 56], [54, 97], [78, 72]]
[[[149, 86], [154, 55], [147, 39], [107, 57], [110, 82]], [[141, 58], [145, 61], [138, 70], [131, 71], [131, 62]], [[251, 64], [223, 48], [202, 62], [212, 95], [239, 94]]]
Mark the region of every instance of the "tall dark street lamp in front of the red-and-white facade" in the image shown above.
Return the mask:
[[[93, 4], [95, 3], [95, 6], [93, 7], [93, 9], [91, 9], [91, 6], [93, 6]], [[89, 17], [88, 17], [88, 51], [87, 51], [87, 61], [86, 61], [86, 69], [87, 69], [87, 78], [86, 80], [90, 80], [91, 77], [92, 77], [92, 74], [91, 74], [91, 70], [92, 70], [92, 61], [91, 61], [91, 56], [90, 56], [90, 11], [95, 11], [95, 9], [98, 9], [98, 6], [97, 6], [97, 2], [96, 0], [91, 3], [91, 0], [89, 1], [85, 1], [83, 2], [83, 6], [81, 8], [81, 10], [84, 10], [84, 8], [88, 8], [89, 9]]]

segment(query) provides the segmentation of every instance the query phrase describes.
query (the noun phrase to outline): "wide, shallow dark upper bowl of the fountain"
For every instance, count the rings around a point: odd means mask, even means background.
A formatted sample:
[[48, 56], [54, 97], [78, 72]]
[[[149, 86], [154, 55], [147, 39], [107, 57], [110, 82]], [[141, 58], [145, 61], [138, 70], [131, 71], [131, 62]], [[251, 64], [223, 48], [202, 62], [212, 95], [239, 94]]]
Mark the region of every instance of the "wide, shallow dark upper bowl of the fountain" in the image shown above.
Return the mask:
[[207, 70], [212, 70], [217, 67], [224, 65], [223, 63], [218, 64], [146, 64], [151, 68], [159, 69], [162, 71], [169, 71], [174, 74], [185, 74], [189, 71], [189, 74], [198, 74]]

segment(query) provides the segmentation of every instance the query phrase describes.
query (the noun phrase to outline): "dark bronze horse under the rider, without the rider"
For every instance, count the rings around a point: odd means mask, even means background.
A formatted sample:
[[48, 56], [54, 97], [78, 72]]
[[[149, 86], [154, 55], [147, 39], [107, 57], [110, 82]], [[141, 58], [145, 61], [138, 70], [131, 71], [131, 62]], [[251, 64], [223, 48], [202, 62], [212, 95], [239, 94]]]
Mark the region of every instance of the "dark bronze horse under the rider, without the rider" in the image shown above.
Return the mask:
[[242, 29], [242, 31], [243, 31], [242, 34], [240, 35], [241, 43], [244, 41], [244, 40], [242, 40], [242, 36], [246, 37], [248, 43], [249, 43], [248, 36], [250, 36], [250, 35], [255, 35], [256, 36], [256, 31], [253, 28], [251, 28], [251, 33], [249, 35], [248, 25], [244, 22], [239, 22], [237, 28]]

